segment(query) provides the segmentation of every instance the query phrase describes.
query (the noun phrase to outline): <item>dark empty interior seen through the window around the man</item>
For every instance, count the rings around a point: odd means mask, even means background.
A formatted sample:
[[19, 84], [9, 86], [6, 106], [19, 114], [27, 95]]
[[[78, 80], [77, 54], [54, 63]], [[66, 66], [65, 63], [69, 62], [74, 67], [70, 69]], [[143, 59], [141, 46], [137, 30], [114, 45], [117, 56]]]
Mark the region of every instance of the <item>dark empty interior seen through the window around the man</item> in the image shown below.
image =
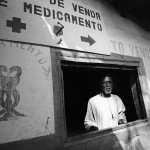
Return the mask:
[[[71, 63], [61, 63], [64, 84], [64, 104], [66, 117], [67, 137], [85, 133], [84, 118], [87, 110], [88, 100], [100, 93], [100, 79], [107, 72], [114, 82], [113, 94], [118, 95], [125, 107], [128, 122], [142, 119], [141, 107], [136, 107], [131, 90], [131, 77], [137, 86], [137, 68], [119, 66]], [[133, 80], [133, 79], [132, 79]], [[138, 88], [137, 88], [138, 89]], [[137, 92], [139, 93], [139, 92]], [[140, 103], [140, 102], [136, 102]], [[140, 105], [140, 104], [139, 104]], [[139, 108], [140, 110], [137, 110]], [[141, 115], [139, 117], [138, 113]]]

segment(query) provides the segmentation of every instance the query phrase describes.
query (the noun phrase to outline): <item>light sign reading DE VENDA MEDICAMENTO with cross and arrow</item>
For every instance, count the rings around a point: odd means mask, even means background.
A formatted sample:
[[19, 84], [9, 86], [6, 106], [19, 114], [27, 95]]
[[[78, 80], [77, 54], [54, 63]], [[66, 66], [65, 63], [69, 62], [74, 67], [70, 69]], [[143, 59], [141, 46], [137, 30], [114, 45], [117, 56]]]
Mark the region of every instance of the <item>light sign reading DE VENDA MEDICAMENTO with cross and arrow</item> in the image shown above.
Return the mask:
[[109, 53], [102, 13], [74, 0], [0, 0], [0, 39]]

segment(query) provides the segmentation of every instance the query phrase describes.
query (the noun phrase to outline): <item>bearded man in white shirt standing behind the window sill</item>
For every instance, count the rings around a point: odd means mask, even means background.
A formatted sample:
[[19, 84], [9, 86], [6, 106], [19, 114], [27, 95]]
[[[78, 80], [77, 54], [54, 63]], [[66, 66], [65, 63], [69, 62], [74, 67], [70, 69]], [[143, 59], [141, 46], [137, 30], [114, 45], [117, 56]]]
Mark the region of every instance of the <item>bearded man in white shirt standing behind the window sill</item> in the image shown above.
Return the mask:
[[87, 131], [96, 131], [127, 123], [125, 106], [122, 100], [112, 94], [112, 78], [106, 75], [102, 79], [102, 92], [90, 98], [84, 125]]

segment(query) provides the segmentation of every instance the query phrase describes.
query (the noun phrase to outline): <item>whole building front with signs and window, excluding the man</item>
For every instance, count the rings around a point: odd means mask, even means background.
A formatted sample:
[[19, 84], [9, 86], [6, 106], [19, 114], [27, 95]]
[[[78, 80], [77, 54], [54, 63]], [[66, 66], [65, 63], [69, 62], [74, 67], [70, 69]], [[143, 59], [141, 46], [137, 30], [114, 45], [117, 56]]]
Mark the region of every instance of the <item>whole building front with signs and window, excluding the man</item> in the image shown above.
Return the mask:
[[[150, 149], [150, 34], [101, 0], [0, 0], [0, 149]], [[85, 132], [106, 72], [128, 123]]]

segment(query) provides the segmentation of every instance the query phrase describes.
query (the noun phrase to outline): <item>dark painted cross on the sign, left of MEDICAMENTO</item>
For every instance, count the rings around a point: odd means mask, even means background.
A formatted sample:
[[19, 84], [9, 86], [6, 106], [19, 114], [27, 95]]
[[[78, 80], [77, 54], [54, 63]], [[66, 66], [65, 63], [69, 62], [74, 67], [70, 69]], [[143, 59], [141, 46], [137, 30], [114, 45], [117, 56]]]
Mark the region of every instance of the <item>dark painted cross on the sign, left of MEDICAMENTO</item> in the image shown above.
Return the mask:
[[7, 27], [12, 27], [12, 32], [21, 33], [21, 29], [26, 30], [26, 24], [21, 23], [20, 18], [13, 17], [12, 21], [7, 20]]

